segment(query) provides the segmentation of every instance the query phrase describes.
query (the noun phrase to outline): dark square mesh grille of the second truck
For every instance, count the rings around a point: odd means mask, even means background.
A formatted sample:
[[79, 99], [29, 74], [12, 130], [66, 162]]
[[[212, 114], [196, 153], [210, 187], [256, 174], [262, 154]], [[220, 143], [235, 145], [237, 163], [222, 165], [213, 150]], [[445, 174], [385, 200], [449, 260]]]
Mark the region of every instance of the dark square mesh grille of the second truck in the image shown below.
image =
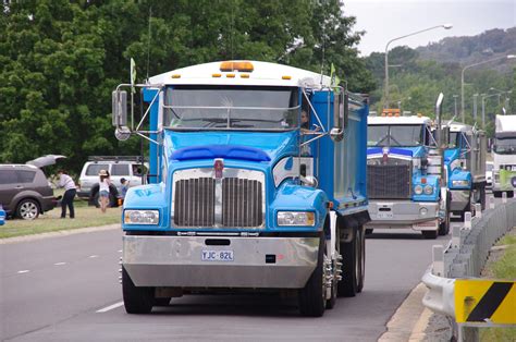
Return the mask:
[[367, 193], [369, 198], [410, 198], [409, 164], [367, 166]]

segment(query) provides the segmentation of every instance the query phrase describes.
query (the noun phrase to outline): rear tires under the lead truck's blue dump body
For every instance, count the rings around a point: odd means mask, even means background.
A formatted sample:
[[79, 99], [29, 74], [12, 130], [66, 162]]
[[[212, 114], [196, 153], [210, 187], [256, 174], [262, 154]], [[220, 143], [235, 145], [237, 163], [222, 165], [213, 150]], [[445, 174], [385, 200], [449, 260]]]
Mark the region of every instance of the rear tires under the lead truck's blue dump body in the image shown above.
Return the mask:
[[363, 265], [365, 260], [363, 260], [363, 253], [365, 253], [365, 236], [361, 231], [361, 228], [355, 229], [353, 240], [341, 243], [343, 276], [339, 283], [339, 296], [354, 297], [364, 286]]

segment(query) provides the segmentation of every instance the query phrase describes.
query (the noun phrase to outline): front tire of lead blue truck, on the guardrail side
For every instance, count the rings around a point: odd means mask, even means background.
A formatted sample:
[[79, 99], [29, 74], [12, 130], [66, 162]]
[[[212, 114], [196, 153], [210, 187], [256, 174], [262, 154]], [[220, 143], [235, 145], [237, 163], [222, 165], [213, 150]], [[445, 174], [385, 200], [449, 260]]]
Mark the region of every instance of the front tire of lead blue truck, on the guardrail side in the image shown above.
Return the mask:
[[324, 314], [325, 281], [324, 281], [324, 236], [320, 237], [317, 267], [308, 279], [305, 288], [299, 290], [299, 312], [303, 316], [321, 317]]

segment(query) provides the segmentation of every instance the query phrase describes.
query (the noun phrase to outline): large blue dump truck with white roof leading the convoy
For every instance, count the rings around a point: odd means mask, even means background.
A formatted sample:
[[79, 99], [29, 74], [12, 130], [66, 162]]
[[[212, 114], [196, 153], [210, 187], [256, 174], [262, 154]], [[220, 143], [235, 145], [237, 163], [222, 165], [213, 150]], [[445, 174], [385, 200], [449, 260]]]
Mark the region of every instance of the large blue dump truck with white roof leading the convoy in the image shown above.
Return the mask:
[[[147, 109], [136, 124], [123, 89], [138, 87]], [[321, 316], [360, 292], [367, 115], [366, 98], [331, 77], [258, 61], [120, 85], [116, 137], [150, 142], [150, 184], [123, 206], [126, 312], [189, 293], [279, 291]]]

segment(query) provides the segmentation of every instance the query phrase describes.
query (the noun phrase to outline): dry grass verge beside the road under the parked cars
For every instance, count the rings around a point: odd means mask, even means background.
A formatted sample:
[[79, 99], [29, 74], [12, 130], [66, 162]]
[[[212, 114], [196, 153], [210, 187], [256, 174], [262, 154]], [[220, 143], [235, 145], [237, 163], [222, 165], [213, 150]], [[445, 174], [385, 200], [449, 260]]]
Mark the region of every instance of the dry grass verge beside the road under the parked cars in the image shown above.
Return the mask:
[[[36, 220], [5, 220], [4, 225], [0, 225], [0, 239], [39, 234], [77, 228], [99, 227], [121, 222], [121, 208], [109, 208], [102, 213], [99, 208], [88, 207], [85, 203], [76, 201], [75, 219], [61, 219], [61, 208], [40, 215]], [[69, 215], [66, 210], [66, 215]]]

